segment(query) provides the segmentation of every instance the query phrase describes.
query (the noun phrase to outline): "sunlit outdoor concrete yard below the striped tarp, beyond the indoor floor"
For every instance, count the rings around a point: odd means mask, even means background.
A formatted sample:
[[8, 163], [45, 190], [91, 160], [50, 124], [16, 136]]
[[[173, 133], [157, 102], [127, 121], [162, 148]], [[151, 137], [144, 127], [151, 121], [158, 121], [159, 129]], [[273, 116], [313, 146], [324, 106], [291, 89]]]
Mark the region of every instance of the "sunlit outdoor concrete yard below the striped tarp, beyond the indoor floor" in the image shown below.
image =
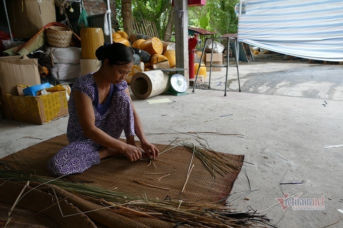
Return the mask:
[[[211, 73], [211, 88], [224, 90], [225, 70]], [[242, 92], [343, 100], [343, 65], [256, 59], [240, 62], [239, 71]], [[208, 82], [209, 72], [201, 88]], [[227, 90], [238, 91], [235, 67], [229, 68]]]

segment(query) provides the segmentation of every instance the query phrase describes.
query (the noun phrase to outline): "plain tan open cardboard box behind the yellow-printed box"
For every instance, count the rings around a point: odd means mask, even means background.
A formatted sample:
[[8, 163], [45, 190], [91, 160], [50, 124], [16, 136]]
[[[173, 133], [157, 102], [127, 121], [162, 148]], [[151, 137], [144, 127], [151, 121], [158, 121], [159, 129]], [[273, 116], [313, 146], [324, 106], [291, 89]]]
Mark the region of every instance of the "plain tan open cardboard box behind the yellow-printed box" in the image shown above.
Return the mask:
[[0, 96], [5, 116], [12, 118], [6, 94], [18, 95], [17, 85], [35, 86], [40, 84], [37, 59], [26, 56], [0, 57]]

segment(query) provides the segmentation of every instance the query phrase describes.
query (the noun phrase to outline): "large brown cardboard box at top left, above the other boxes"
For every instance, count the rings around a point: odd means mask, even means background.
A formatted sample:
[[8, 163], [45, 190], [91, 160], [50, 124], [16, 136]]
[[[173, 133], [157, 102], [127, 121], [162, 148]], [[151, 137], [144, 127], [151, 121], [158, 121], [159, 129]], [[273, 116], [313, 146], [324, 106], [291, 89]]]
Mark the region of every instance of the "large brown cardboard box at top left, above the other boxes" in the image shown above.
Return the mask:
[[54, 0], [7, 1], [7, 12], [15, 38], [32, 38], [41, 28], [56, 21]]

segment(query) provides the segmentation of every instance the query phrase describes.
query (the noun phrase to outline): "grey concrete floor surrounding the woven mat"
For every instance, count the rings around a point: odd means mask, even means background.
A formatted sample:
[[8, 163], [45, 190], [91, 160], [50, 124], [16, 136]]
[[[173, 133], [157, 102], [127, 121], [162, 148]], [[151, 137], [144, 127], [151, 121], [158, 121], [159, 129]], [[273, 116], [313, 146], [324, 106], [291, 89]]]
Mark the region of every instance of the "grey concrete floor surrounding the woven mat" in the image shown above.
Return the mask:
[[[244, 138], [201, 135], [213, 149], [243, 154], [246, 162], [254, 164], [244, 163], [228, 201], [238, 210], [251, 206], [261, 211], [277, 203], [276, 198], [282, 198], [282, 192], [290, 196], [303, 193], [300, 198], [324, 197], [325, 210], [322, 211], [297, 211], [291, 207], [283, 211], [280, 204], [263, 211], [280, 227], [320, 227], [343, 216], [337, 211], [343, 209], [343, 147], [324, 149], [324, 145], [343, 143], [342, 68], [342, 65], [287, 61], [242, 63], [242, 93], [232, 91], [237, 90], [237, 81], [231, 72], [232, 90], [226, 97], [222, 91], [197, 89], [195, 93], [189, 90], [187, 96], [150, 98], [169, 98], [175, 101], [172, 103], [150, 105], [134, 97], [133, 103], [146, 133], [176, 130], [244, 134]], [[220, 82], [223, 72], [215, 72], [213, 81]], [[205, 122], [228, 114], [233, 115]], [[65, 133], [67, 121], [65, 117], [33, 125], [3, 120], [0, 122], [0, 157]], [[176, 137], [189, 136], [148, 135], [154, 143], [168, 143]], [[251, 190], [257, 191], [249, 193], [245, 172]], [[300, 181], [304, 183], [282, 185], [282, 189], [279, 185]], [[243, 199], [245, 195], [249, 201]], [[343, 220], [330, 227], [343, 227]]]

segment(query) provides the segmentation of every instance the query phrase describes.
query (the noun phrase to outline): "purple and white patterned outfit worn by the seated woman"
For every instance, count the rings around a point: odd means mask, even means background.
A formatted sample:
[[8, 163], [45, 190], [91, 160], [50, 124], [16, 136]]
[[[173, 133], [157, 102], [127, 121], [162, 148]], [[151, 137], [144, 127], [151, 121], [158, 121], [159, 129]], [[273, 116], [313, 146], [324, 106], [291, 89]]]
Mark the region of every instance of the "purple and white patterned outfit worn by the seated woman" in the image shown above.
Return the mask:
[[74, 90], [84, 93], [92, 100], [96, 127], [116, 139], [121, 136], [123, 130], [126, 137], [135, 135], [130, 98], [124, 92], [128, 84], [123, 81], [119, 85], [111, 85], [109, 96], [102, 105], [98, 102], [97, 87], [92, 73], [80, 77], [72, 87], [67, 128], [70, 144], [63, 147], [48, 162], [47, 168], [53, 175], [82, 173], [100, 162], [98, 150], [102, 146], [84, 135], [76, 113]]

